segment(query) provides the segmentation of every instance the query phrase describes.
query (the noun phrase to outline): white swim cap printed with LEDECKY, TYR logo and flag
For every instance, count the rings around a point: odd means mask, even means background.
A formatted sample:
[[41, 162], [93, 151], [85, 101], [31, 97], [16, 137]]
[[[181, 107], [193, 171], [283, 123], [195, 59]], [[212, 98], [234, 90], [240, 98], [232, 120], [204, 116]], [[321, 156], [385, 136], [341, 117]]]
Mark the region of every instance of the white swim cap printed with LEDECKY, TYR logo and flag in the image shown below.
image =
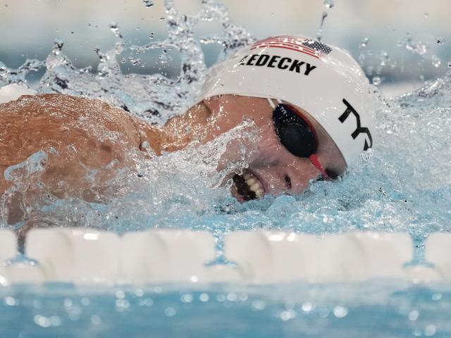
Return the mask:
[[214, 65], [199, 101], [221, 94], [281, 99], [328, 132], [349, 167], [373, 145], [369, 82], [343, 49], [309, 37], [268, 37]]

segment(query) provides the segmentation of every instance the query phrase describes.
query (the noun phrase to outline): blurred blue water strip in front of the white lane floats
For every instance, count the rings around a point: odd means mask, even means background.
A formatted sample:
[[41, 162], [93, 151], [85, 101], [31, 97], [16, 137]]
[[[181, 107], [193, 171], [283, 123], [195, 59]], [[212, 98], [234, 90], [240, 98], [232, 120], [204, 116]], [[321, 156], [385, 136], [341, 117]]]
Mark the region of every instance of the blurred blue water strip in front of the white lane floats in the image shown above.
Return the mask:
[[1, 337], [450, 337], [449, 287], [13, 287]]

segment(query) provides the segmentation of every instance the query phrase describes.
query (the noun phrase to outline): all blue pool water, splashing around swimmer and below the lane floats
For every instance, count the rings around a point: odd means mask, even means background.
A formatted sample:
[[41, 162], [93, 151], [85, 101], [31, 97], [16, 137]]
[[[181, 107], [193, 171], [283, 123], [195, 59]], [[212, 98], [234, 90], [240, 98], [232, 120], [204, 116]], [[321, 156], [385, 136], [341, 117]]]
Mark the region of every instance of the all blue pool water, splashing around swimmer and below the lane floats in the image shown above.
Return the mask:
[[[223, 6], [204, 1], [202, 11], [185, 17], [166, 1], [168, 38], [147, 46], [124, 41], [111, 25], [116, 47], [97, 51], [96, 73], [75, 68], [56, 41], [47, 60], [27, 61], [19, 70], [0, 63], [0, 87], [22, 83], [45, 67], [35, 90], [83, 95], [121, 106], [130, 113], [163, 123], [189, 107], [206, 73], [202, 44], [224, 47], [220, 58], [254, 41], [237, 27]], [[202, 20], [218, 20], [221, 35], [194, 39]], [[180, 54], [180, 75], [124, 75], [121, 54], [139, 57], [149, 49]], [[41, 189], [42, 170], [16, 175], [0, 198], [1, 227], [8, 224], [8, 199], [23, 196], [28, 217], [49, 225], [98, 227], [114, 232], [177, 227], [213, 232], [221, 239], [234, 230], [281, 229], [309, 234], [349, 230], [404, 232], [415, 243], [413, 263], [424, 262], [424, 241], [432, 232], [451, 230], [451, 74], [394, 98], [371, 87], [377, 117], [374, 148], [340, 182], [313, 182], [300, 196], [267, 196], [240, 204], [219, 182], [241, 161], [216, 173], [224, 144], [254, 139], [258, 130], [244, 121], [215, 142], [165, 154], [140, 163], [135, 172], [118, 173], [121, 196], [105, 204], [78, 199], [35, 201], [27, 189]], [[51, 161], [51, 149], [31, 156]], [[130, 154], [133, 156], [133, 154]], [[161, 168], [165, 168], [164, 171]], [[39, 169], [39, 168], [38, 168]], [[106, 169], [105, 169], [106, 170]], [[93, 174], [94, 175], [94, 174]], [[95, 177], [95, 175], [94, 175]], [[221, 251], [221, 242], [218, 250]], [[148, 285], [144, 287], [74, 287], [71, 284], [16, 285], [0, 288], [1, 337], [450, 337], [451, 285], [412, 285], [371, 281], [362, 284], [280, 284], [243, 287], [233, 284]]]

